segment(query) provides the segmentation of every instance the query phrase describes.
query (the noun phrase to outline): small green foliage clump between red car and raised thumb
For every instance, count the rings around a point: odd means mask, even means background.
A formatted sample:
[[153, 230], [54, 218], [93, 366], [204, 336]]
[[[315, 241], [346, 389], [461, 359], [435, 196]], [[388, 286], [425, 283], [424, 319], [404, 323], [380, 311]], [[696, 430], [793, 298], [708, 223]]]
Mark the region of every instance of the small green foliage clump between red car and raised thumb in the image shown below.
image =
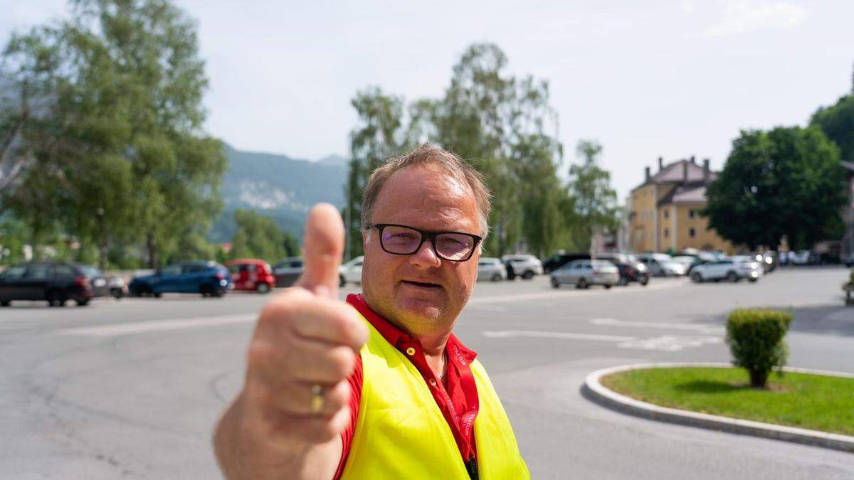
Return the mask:
[[272, 219], [254, 210], [238, 209], [234, 216], [237, 232], [231, 239], [231, 259], [258, 258], [275, 263], [300, 254], [296, 239], [281, 231]]

